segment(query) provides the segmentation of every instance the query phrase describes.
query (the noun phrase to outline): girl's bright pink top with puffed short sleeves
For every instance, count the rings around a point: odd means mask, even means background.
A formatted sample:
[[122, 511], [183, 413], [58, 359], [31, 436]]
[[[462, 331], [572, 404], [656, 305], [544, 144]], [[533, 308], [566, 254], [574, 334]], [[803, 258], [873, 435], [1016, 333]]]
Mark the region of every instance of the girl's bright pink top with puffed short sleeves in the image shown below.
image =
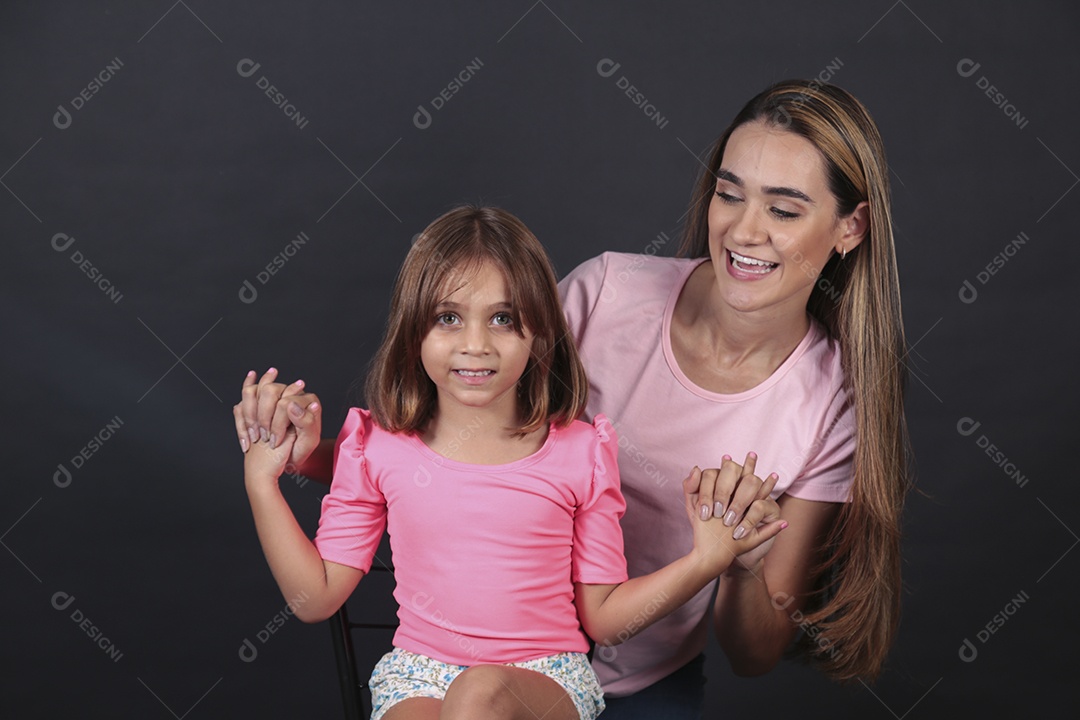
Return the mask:
[[573, 582], [626, 580], [617, 448], [597, 416], [551, 427], [527, 458], [473, 465], [352, 408], [315, 546], [367, 572], [389, 530], [397, 648], [455, 665], [585, 652]]

